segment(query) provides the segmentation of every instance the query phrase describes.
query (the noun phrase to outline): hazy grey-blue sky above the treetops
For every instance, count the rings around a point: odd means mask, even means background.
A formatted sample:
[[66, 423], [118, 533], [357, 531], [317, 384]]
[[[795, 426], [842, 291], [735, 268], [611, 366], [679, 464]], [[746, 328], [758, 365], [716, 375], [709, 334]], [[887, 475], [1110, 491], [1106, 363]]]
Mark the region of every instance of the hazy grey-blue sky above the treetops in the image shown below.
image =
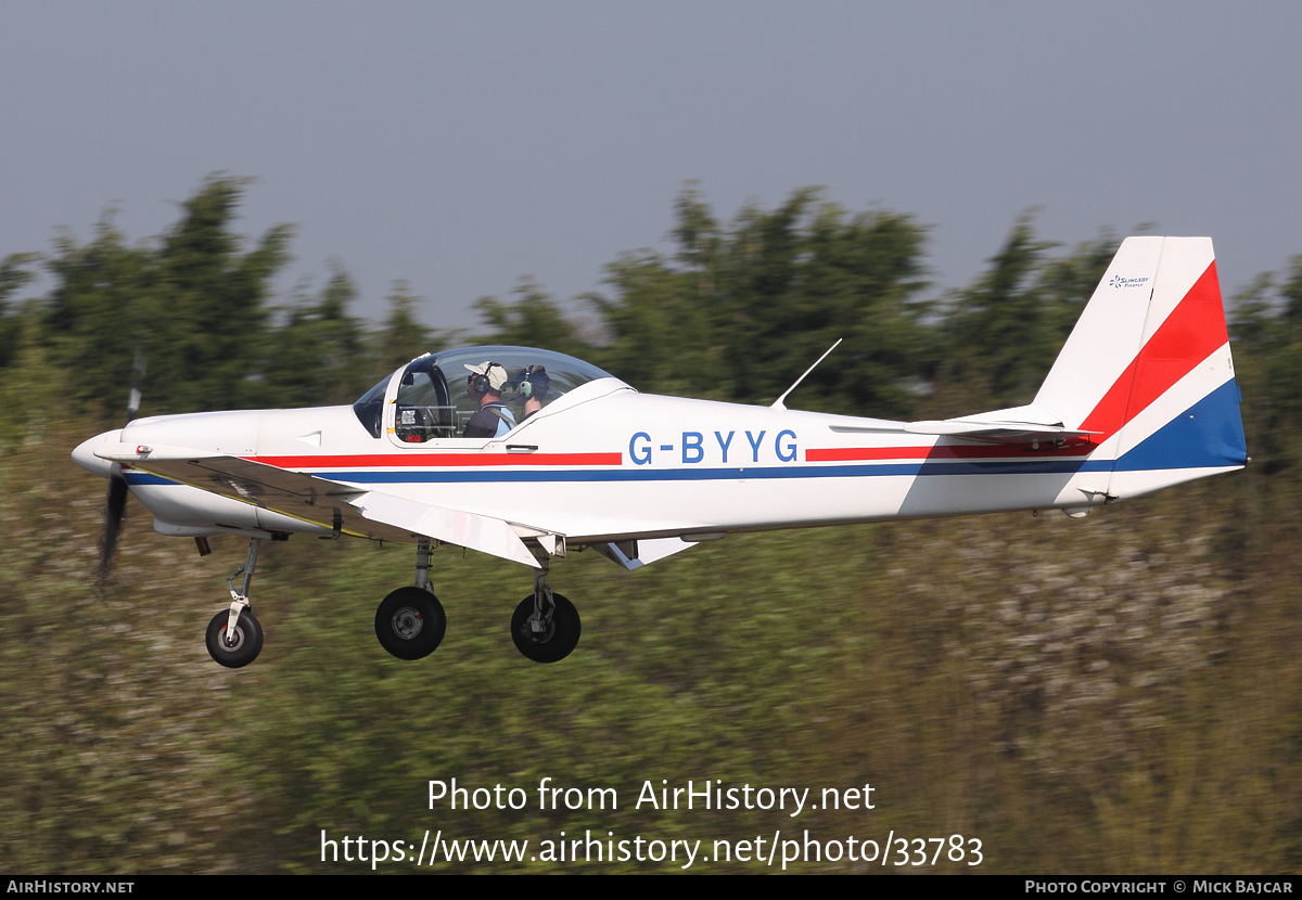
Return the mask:
[[431, 325], [561, 298], [716, 212], [829, 199], [934, 226], [937, 290], [1018, 215], [1213, 238], [1226, 291], [1302, 252], [1302, 4], [25, 3], [0, 7], [0, 255], [158, 234], [204, 176]]

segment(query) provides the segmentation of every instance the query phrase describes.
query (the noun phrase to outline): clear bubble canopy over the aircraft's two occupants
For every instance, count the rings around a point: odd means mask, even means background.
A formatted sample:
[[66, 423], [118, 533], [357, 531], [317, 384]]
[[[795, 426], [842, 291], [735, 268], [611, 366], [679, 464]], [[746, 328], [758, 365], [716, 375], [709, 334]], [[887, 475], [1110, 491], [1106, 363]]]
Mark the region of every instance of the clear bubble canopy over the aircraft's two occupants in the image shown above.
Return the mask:
[[[518, 424], [579, 385], [613, 377], [574, 356], [501, 345], [460, 347], [426, 354], [380, 381], [353, 404], [362, 427], [372, 437], [384, 433], [384, 401], [393, 398], [395, 417], [388, 423], [400, 443], [426, 443], [460, 438], [466, 423], [480, 408], [480, 395], [470, 391], [474, 373], [484, 363], [505, 369], [499, 415], [508, 425]], [[396, 382], [396, 390], [393, 385]]]

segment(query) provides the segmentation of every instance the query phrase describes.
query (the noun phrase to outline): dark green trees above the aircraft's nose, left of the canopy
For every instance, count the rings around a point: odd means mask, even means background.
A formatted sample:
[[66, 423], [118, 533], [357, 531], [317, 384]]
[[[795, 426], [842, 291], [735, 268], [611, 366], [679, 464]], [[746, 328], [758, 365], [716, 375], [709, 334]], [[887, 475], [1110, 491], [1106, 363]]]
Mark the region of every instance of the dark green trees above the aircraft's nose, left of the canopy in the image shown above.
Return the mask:
[[[251, 247], [233, 230], [245, 181], [211, 178], [164, 235], [132, 245], [105, 218], [89, 243], [60, 237], [52, 252], [0, 267], [0, 367], [23, 358], [61, 373], [68, 399], [122, 415], [137, 351], [150, 412], [315, 406], [355, 398], [383, 373], [439, 346], [398, 284], [387, 319], [349, 311], [357, 287], [335, 268], [316, 293], [273, 306], [292, 228]], [[40, 271], [52, 286], [18, 300]]]

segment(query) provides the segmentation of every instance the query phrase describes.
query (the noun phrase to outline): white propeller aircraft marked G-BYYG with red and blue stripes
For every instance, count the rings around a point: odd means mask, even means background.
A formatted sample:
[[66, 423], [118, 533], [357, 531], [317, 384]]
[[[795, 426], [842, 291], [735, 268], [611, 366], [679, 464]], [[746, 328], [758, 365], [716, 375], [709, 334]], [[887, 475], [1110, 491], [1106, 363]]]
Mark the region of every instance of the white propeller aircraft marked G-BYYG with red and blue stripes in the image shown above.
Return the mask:
[[547, 585], [568, 551], [633, 570], [730, 532], [1004, 510], [1078, 518], [1247, 462], [1208, 238], [1128, 238], [1030, 406], [885, 421], [798, 412], [785, 398], [639, 394], [569, 356], [471, 347], [421, 356], [353, 406], [138, 419], [73, 459], [125, 480], [156, 531], [201, 553], [215, 535], [249, 538], [207, 632], [229, 667], [262, 649], [249, 609], [258, 549], [293, 533], [417, 546], [415, 585], [375, 614], [380, 644], [402, 659], [432, 653], [447, 627], [431, 546], [530, 566], [512, 637], [555, 662], [579, 639], [574, 606]]

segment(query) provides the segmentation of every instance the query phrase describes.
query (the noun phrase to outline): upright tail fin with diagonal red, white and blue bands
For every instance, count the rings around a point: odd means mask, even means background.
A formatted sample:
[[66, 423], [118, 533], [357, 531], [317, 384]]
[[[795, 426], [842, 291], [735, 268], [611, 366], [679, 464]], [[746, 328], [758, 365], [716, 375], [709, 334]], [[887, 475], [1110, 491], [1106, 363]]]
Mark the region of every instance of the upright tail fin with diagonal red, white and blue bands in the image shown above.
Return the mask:
[[1035, 407], [1100, 433], [1091, 457], [1115, 460], [1108, 493], [1120, 497], [1242, 467], [1238, 401], [1211, 238], [1138, 237], [1122, 242]]

